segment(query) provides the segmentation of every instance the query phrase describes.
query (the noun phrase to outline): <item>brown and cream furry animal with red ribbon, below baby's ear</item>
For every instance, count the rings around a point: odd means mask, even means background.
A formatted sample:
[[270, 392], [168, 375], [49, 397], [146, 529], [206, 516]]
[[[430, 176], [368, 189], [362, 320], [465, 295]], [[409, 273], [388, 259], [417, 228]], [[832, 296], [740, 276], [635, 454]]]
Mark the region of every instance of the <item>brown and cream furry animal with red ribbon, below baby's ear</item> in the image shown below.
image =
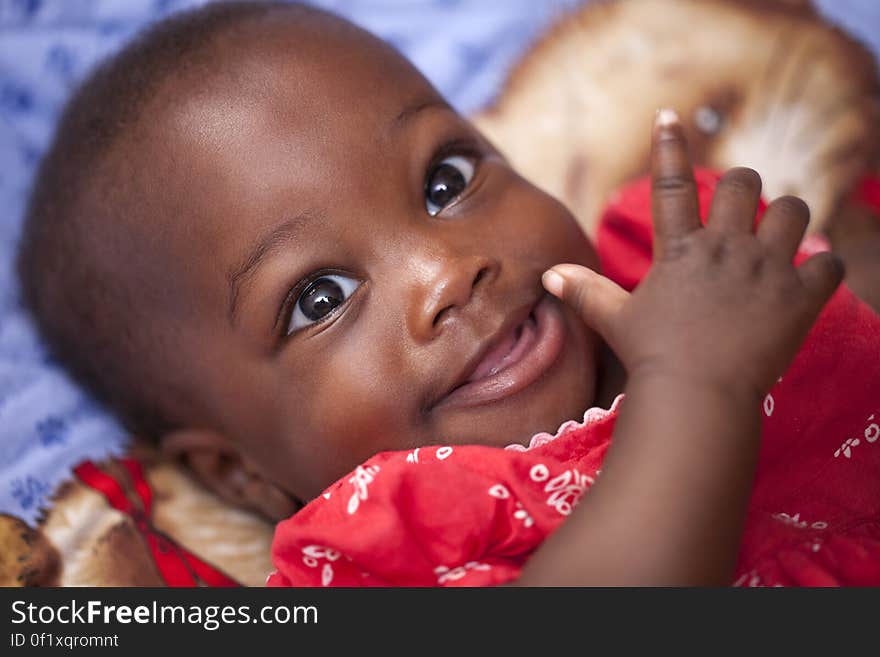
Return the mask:
[[[152, 492], [151, 532], [241, 584], [265, 583], [272, 569], [272, 523], [231, 507], [148, 446], [136, 445], [131, 456], [143, 466]], [[116, 462], [99, 466], [137, 505], [125, 469]], [[0, 514], [0, 586], [164, 586], [145, 539], [136, 518], [72, 479], [56, 491], [36, 528]]]

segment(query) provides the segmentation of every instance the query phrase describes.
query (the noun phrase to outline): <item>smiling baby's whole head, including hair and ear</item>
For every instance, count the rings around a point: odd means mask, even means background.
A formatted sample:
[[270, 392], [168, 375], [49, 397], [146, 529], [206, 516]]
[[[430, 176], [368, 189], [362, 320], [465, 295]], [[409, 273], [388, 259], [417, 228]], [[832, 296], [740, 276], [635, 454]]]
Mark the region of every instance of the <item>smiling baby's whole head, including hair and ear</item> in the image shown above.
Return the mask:
[[541, 287], [560, 262], [597, 266], [573, 217], [394, 49], [245, 4], [172, 18], [86, 82], [19, 265], [78, 379], [280, 516], [378, 451], [580, 416], [597, 338]]

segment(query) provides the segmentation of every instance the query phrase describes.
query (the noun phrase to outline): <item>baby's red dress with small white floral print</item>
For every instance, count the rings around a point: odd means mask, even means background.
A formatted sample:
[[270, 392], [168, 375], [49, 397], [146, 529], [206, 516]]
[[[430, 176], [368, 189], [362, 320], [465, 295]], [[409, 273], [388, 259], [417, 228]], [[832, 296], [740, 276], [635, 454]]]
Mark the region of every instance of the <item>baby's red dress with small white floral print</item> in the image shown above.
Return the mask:
[[[697, 177], [705, 216], [717, 178]], [[630, 289], [650, 266], [649, 184], [639, 181], [612, 199], [597, 239], [603, 271]], [[880, 208], [876, 196], [865, 198]], [[821, 248], [820, 238], [805, 240], [796, 260]], [[279, 523], [277, 570], [267, 583], [484, 586], [515, 579], [601, 476], [622, 399], [609, 410], [587, 410], [555, 436], [538, 434], [528, 448], [435, 445], [374, 456]], [[650, 550], [651, 537], [644, 540]], [[763, 400], [732, 584], [880, 585], [880, 316], [844, 286]]]

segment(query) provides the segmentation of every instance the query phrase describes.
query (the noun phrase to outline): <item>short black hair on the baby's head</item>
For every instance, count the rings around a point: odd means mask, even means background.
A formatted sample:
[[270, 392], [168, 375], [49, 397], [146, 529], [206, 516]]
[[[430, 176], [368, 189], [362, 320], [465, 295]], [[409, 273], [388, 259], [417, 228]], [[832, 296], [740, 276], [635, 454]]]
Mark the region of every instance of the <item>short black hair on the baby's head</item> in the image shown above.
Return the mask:
[[186, 391], [154, 357], [173, 336], [150, 328], [137, 287], [101, 262], [114, 244], [96, 228], [120, 220], [126, 187], [136, 185], [111, 151], [173, 73], [211, 65], [200, 55], [214, 37], [278, 9], [324, 14], [288, 2], [219, 2], [141, 32], [73, 94], [37, 170], [18, 251], [24, 303], [53, 357], [135, 434], [176, 428], [172, 408]]

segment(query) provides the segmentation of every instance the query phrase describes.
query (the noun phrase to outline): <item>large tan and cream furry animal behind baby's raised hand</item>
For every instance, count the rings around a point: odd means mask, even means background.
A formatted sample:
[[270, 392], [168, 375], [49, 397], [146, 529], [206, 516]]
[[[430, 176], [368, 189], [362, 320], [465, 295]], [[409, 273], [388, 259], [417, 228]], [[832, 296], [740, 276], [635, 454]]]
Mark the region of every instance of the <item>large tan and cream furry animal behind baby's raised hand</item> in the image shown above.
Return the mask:
[[659, 107], [684, 120], [695, 164], [755, 169], [768, 199], [807, 201], [811, 231], [878, 168], [874, 58], [808, 2], [589, 4], [523, 57], [476, 122], [595, 235], [608, 194], [647, 173]]

